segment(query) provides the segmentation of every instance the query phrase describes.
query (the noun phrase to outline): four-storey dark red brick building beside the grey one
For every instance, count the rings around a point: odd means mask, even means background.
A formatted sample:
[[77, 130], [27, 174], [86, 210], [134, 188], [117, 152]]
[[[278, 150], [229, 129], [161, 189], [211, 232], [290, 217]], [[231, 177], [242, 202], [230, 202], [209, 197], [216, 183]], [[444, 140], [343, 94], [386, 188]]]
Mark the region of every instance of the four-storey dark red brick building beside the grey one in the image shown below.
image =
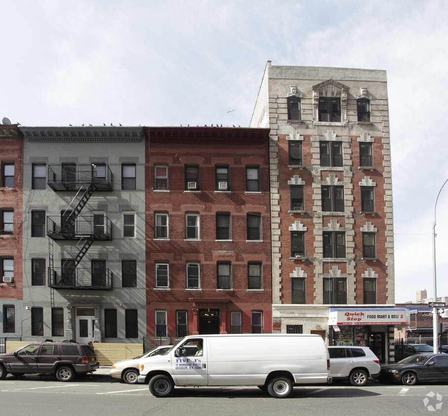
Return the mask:
[[271, 332], [269, 129], [147, 132], [149, 339]]

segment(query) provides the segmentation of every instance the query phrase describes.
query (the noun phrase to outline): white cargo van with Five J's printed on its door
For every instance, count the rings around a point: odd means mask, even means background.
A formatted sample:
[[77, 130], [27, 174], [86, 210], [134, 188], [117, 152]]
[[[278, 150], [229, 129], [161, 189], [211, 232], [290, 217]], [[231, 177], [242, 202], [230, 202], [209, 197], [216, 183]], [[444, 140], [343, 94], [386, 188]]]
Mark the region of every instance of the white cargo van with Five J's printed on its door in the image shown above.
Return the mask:
[[184, 338], [140, 362], [138, 381], [156, 397], [177, 386], [257, 385], [287, 397], [293, 385], [331, 383], [330, 357], [319, 335], [232, 334]]

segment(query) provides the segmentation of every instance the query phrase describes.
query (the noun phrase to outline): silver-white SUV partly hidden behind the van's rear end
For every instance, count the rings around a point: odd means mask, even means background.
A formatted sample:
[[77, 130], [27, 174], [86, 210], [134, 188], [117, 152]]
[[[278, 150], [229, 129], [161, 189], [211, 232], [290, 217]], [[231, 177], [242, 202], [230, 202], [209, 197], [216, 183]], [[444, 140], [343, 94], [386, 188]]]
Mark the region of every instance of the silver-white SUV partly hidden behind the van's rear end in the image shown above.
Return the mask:
[[333, 380], [348, 379], [351, 385], [363, 386], [378, 377], [379, 359], [369, 347], [328, 347]]

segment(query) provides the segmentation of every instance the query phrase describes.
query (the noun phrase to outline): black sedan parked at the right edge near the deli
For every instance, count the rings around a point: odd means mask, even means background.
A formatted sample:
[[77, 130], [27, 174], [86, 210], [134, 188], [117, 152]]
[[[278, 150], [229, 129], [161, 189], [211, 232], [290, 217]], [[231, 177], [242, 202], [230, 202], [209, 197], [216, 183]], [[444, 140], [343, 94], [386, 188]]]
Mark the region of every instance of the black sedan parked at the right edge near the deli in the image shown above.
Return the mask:
[[379, 381], [416, 382], [448, 381], [447, 354], [415, 354], [396, 364], [381, 365]]

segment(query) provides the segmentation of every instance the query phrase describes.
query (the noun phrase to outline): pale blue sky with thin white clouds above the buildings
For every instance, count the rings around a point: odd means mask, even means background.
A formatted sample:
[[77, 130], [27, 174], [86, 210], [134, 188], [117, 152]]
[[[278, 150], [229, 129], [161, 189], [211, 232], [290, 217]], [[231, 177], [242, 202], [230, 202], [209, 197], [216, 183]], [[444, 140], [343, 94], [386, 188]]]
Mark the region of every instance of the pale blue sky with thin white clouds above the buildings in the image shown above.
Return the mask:
[[267, 61], [386, 70], [395, 302], [415, 300], [418, 290], [434, 295], [434, 221], [437, 295], [448, 296], [448, 146], [440, 119], [447, 117], [440, 107], [448, 1], [0, 5], [0, 119], [23, 126], [248, 127]]

